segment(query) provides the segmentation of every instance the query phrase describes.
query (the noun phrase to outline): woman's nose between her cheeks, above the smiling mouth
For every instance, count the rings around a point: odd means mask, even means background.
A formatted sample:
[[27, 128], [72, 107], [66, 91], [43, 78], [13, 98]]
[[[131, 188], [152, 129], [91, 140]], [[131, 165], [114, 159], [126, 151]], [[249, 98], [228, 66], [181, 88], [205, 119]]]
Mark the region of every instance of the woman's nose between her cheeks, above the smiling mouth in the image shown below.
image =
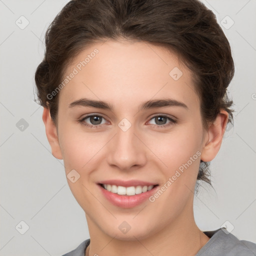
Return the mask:
[[[126, 127], [127, 128], [127, 127]], [[107, 162], [120, 170], [133, 170], [146, 163], [146, 146], [140, 132], [131, 125], [127, 130], [116, 127], [116, 134], [108, 143]]]

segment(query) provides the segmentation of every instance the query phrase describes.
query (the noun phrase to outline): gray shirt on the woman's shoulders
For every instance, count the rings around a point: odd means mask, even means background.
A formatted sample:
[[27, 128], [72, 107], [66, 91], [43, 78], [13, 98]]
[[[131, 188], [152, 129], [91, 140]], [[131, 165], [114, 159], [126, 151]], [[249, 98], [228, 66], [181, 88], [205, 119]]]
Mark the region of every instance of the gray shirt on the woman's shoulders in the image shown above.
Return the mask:
[[[213, 231], [204, 231], [210, 239], [195, 254], [195, 256], [256, 256], [256, 243], [239, 240], [231, 233], [219, 228]], [[62, 256], [84, 256], [90, 239], [84, 240], [74, 250]]]

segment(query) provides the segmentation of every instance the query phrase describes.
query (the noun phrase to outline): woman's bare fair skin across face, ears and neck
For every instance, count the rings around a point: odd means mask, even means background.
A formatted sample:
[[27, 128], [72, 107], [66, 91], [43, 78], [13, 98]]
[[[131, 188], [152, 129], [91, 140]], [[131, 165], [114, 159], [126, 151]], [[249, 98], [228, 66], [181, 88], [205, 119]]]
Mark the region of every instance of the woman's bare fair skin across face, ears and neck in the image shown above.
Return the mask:
[[[202, 126], [200, 102], [195, 93], [192, 73], [174, 53], [145, 42], [105, 41], [81, 51], [65, 70], [97, 48], [99, 52], [59, 92], [57, 124], [44, 108], [42, 119], [52, 154], [63, 159], [65, 174], [75, 169], [80, 178], [67, 182], [85, 212], [88, 223], [89, 255], [194, 255], [209, 240], [196, 225], [193, 196], [200, 159], [211, 161], [217, 154], [228, 113], [221, 110], [208, 129]], [[182, 71], [174, 80], [173, 67]], [[74, 100], [87, 97], [111, 103], [112, 111], [94, 107], [68, 107]], [[138, 111], [149, 99], [171, 97], [178, 106]], [[77, 120], [86, 114], [103, 116], [101, 126], [86, 127]], [[175, 117], [156, 127], [157, 118]], [[131, 127], [118, 127], [122, 118]], [[93, 120], [92, 120], [93, 121]], [[85, 123], [93, 125], [90, 119]], [[124, 209], [112, 205], [96, 185], [104, 179], [139, 179], [166, 183], [182, 163], [196, 151], [201, 155], [154, 202]], [[123, 221], [131, 226], [122, 233]]]

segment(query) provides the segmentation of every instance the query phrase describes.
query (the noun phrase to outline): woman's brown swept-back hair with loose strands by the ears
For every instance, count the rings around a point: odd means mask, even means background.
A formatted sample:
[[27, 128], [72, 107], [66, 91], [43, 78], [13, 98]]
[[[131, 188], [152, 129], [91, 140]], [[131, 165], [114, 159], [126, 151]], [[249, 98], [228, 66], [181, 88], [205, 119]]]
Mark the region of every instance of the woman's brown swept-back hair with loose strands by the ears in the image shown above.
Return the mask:
[[[203, 126], [220, 109], [233, 122], [226, 89], [234, 74], [229, 42], [214, 13], [199, 0], [71, 0], [45, 34], [45, 53], [35, 72], [39, 104], [57, 121], [58, 93], [65, 68], [84, 47], [106, 39], [141, 40], [174, 51], [192, 71]], [[197, 180], [211, 185], [209, 162], [201, 160]]]

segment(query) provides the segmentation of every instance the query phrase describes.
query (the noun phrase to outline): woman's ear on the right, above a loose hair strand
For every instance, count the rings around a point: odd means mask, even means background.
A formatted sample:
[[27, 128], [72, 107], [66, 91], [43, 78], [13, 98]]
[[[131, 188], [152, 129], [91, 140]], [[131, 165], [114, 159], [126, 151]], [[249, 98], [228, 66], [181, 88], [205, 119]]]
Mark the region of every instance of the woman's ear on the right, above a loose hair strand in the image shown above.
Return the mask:
[[205, 136], [204, 146], [202, 148], [201, 160], [211, 161], [219, 151], [222, 138], [228, 121], [228, 112], [221, 109], [215, 121], [208, 127], [208, 135]]

